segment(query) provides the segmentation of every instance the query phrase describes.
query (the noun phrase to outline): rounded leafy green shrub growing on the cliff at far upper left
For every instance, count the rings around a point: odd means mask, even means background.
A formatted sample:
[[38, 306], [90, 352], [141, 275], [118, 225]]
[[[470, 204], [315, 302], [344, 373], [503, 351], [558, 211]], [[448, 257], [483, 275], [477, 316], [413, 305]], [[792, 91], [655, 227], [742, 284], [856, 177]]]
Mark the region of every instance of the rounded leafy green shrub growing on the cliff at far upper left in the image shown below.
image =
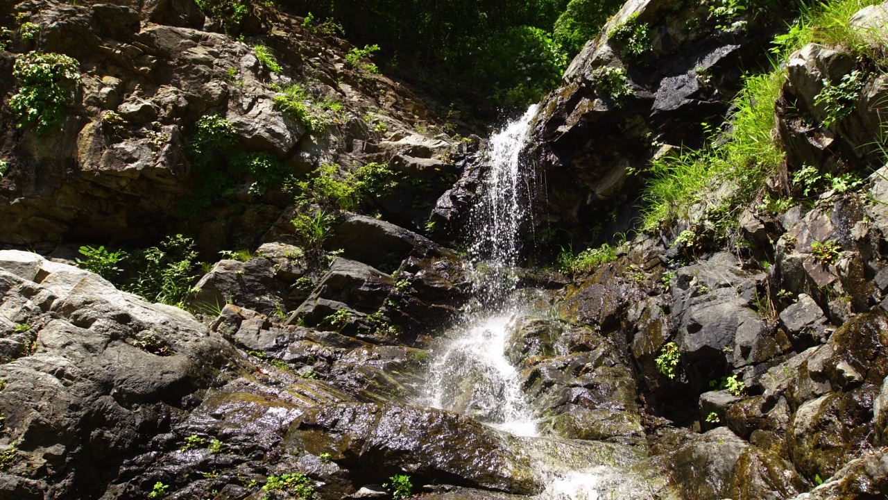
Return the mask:
[[62, 111], [74, 101], [80, 82], [78, 62], [64, 54], [28, 52], [21, 54], [12, 68], [19, 93], [9, 107], [18, 118], [18, 127], [36, 125], [37, 133], [58, 129]]

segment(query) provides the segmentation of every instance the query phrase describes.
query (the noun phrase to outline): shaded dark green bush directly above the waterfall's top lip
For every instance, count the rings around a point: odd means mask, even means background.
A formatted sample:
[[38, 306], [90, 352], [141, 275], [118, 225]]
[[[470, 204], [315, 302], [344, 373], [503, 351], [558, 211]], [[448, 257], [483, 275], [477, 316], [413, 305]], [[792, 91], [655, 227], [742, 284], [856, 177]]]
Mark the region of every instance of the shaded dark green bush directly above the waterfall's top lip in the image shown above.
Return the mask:
[[[504, 61], [509, 61], [505, 63]], [[515, 26], [491, 35], [472, 58], [472, 80], [508, 107], [539, 101], [561, 81], [567, 54], [548, 32]]]

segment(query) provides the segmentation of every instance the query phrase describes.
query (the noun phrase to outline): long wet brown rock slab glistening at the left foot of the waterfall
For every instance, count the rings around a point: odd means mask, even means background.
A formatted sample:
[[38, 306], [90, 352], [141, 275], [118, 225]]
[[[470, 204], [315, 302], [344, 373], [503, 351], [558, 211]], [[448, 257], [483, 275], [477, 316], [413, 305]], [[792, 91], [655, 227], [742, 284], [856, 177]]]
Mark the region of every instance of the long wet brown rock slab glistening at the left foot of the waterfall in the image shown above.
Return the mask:
[[535, 494], [542, 489], [519, 441], [462, 416], [404, 405], [340, 404], [306, 410], [288, 448], [330, 453], [353, 480], [415, 480]]

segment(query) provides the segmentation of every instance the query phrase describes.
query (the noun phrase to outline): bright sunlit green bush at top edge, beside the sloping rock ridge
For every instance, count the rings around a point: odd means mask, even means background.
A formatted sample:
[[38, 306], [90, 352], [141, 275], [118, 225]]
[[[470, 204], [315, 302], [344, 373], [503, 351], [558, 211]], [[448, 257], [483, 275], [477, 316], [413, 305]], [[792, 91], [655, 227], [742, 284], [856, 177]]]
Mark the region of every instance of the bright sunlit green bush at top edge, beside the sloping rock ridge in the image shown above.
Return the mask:
[[555, 42], [567, 52], [580, 52], [621, 6], [622, 0], [570, 0], [552, 28]]

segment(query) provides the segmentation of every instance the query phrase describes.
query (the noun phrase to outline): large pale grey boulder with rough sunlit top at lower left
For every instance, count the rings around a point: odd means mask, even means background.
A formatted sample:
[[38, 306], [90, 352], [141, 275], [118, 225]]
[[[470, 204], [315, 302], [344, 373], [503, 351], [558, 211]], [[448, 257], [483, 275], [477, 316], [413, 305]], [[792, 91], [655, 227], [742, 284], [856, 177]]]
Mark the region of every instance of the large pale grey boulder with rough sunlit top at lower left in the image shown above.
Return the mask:
[[8, 498], [95, 496], [235, 356], [186, 312], [36, 254], [0, 251], [0, 290]]

